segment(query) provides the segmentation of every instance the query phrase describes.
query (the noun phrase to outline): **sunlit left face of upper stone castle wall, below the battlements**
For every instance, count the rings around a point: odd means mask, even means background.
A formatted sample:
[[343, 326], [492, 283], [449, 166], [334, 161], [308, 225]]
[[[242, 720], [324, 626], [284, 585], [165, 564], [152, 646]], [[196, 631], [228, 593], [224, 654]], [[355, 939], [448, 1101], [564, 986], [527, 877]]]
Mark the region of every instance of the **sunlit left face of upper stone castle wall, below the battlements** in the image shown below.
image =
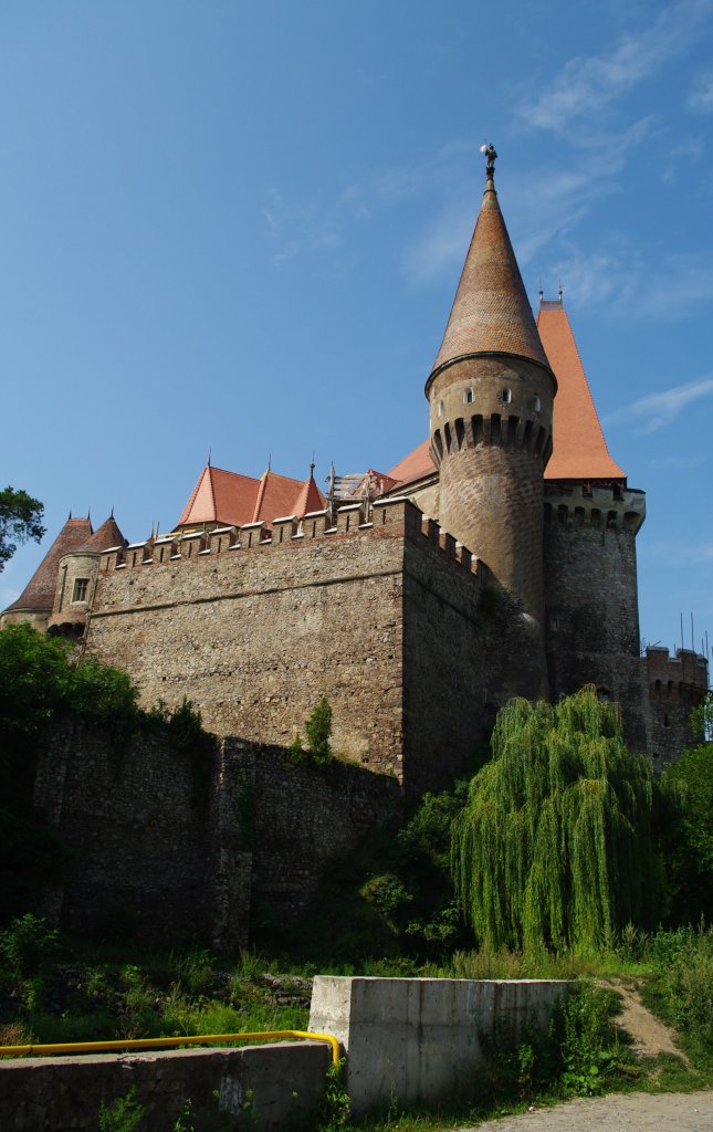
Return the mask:
[[326, 695], [335, 749], [401, 777], [405, 506], [277, 546], [103, 561], [87, 651], [144, 704], [188, 695], [211, 730], [252, 741], [289, 745]]

